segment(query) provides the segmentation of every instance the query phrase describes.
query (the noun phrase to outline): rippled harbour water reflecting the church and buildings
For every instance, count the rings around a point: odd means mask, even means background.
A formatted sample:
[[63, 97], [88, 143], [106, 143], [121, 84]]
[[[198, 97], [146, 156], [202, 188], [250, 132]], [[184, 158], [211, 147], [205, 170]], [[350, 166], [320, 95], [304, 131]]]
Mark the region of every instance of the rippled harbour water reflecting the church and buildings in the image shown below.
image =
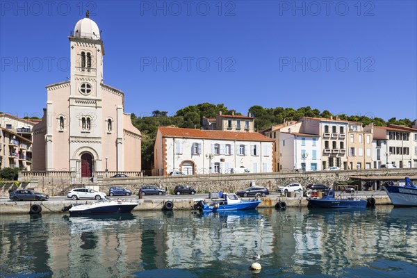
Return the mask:
[[[417, 277], [417, 208], [1, 215], [6, 277]], [[255, 275], [256, 277], [256, 275]]]

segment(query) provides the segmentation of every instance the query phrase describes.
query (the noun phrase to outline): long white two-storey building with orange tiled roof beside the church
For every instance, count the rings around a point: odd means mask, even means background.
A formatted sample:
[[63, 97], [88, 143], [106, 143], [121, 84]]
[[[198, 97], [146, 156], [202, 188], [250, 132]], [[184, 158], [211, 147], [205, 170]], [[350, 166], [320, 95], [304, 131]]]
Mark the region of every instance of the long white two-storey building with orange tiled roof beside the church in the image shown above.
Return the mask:
[[272, 172], [274, 141], [261, 133], [158, 127], [154, 174], [227, 173], [234, 167]]

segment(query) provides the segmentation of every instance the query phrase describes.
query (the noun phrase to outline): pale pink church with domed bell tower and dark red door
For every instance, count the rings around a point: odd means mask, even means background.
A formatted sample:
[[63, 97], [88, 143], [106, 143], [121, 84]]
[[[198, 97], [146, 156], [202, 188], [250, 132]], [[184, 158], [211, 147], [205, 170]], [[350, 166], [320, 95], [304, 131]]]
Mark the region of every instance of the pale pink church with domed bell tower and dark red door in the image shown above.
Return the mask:
[[33, 126], [33, 170], [140, 172], [141, 134], [124, 113], [124, 93], [103, 83], [104, 45], [86, 17], [70, 37], [71, 77], [47, 85], [47, 108]]

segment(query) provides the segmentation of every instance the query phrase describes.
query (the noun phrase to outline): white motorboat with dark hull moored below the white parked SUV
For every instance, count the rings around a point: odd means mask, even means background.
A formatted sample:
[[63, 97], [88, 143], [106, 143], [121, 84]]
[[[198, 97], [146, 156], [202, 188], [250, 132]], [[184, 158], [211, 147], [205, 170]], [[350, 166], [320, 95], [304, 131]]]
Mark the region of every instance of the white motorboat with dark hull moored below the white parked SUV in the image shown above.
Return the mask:
[[123, 202], [120, 200], [112, 201], [111, 199], [100, 199], [93, 204], [71, 204], [64, 206], [62, 211], [69, 211], [70, 215], [88, 214], [88, 213], [129, 213], [133, 208], [138, 206], [136, 202]]

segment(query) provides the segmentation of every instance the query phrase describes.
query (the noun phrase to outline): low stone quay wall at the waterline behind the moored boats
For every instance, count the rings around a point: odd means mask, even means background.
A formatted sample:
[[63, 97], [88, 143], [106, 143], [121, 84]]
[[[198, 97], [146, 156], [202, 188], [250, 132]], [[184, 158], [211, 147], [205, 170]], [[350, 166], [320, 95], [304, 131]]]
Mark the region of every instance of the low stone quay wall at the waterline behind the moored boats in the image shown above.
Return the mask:
[[[369, 197], [369, 196], [368, 196]], [[358, 196], [359, 199], [366, 199], [366, 196]], [[391, 204], [391, 200], [388, 196], [373, 196], [375, 198], [375, 205], [388, 205]], [[190, 210], [191, 206], [195, 204], [197, 199], [202, 198], [184, 198], [184, 199], [170, 199], [169, 196], [166, 196], [164, 199], [128, 199], [127, 202], [138, 202], [139, 205], [133, 209], [133, 211], [152, 211], [152, 210], [161, 210], [166, 201], [171, 201], [174, 203], [173, 210]], [[243, 200], [248, 198], [241, 198]], [[205, 199], [207, 201], [207, 199]], [[260, 208], [270, 208], [275, 207], [277, 202], [282, 201], [286, 202], [287, 207], [306, 207], [308, 202], [306, 197], [263, 197]], [[63, 201], [44, 201], [44, 202], [12, 202], [12, 201], [2, 201], [0, 202], [0, 215], [1, 214], [10, 214], [10, 213], [19, 213], [27, 214], [30, 211], [30, 208], [33, 204], [40, 204], [42, 207], [42, 213], [63, 213], [60, 211], [63, 206], [69, 206], [74, 204], [75, 201], [72, 200], [63, 200]], [[91, 204], [95, 201], [78, 201], [79, 204]], [[67, 213], [67, 212], [65, 212]]]

